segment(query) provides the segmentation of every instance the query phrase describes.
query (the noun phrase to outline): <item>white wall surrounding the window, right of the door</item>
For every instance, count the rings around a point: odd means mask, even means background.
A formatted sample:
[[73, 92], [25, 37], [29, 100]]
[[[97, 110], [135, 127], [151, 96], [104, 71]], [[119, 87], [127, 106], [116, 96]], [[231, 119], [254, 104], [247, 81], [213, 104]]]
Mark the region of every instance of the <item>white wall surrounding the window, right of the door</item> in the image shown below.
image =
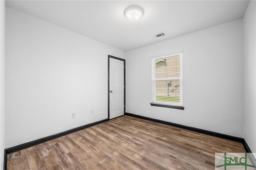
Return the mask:
[[[184, 110], [150, 106], [151, 57], [183, 51]], [[242, 20], [126, 53], [126, 112], [243, 137]]]

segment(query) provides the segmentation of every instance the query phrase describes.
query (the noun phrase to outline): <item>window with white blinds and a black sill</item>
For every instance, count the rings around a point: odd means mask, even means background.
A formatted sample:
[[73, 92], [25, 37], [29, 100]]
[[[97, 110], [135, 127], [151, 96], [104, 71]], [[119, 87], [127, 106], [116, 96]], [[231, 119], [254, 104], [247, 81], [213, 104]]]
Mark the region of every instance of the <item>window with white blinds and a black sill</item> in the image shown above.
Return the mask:
[[182, 53], [152, 58], [152, 106], [184, 109]]

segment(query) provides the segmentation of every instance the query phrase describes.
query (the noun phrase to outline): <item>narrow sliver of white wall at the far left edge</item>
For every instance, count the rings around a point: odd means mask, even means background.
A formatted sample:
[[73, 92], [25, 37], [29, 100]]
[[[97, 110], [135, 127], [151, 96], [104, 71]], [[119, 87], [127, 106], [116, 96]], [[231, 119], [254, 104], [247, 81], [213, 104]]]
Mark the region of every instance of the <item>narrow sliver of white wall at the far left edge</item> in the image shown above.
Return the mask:
[[0, 0], [0, 161], [4, 162], [4, 52], [5, 52], [5, 1]]

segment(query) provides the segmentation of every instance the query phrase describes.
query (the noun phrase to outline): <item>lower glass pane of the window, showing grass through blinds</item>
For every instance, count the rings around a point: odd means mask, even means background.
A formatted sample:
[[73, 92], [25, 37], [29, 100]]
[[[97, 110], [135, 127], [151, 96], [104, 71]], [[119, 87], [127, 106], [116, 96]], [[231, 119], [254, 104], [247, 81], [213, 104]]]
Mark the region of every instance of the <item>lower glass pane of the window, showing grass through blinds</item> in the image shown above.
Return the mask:
[[180, 103], [180, 80], [157, 80], [156, 102]]

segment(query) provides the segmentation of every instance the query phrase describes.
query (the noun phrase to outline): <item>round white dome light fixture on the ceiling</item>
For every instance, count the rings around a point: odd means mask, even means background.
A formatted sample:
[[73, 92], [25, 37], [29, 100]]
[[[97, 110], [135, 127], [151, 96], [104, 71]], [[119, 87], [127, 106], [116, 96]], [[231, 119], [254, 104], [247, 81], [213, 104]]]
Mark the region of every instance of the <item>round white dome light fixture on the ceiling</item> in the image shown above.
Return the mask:
[[140, 19], [140, 17], [142, 17], [143, 10], [139, 6], [129, 6], [125, 9], [124, 15], [130, 21], [137, 21], [138, 19]]

